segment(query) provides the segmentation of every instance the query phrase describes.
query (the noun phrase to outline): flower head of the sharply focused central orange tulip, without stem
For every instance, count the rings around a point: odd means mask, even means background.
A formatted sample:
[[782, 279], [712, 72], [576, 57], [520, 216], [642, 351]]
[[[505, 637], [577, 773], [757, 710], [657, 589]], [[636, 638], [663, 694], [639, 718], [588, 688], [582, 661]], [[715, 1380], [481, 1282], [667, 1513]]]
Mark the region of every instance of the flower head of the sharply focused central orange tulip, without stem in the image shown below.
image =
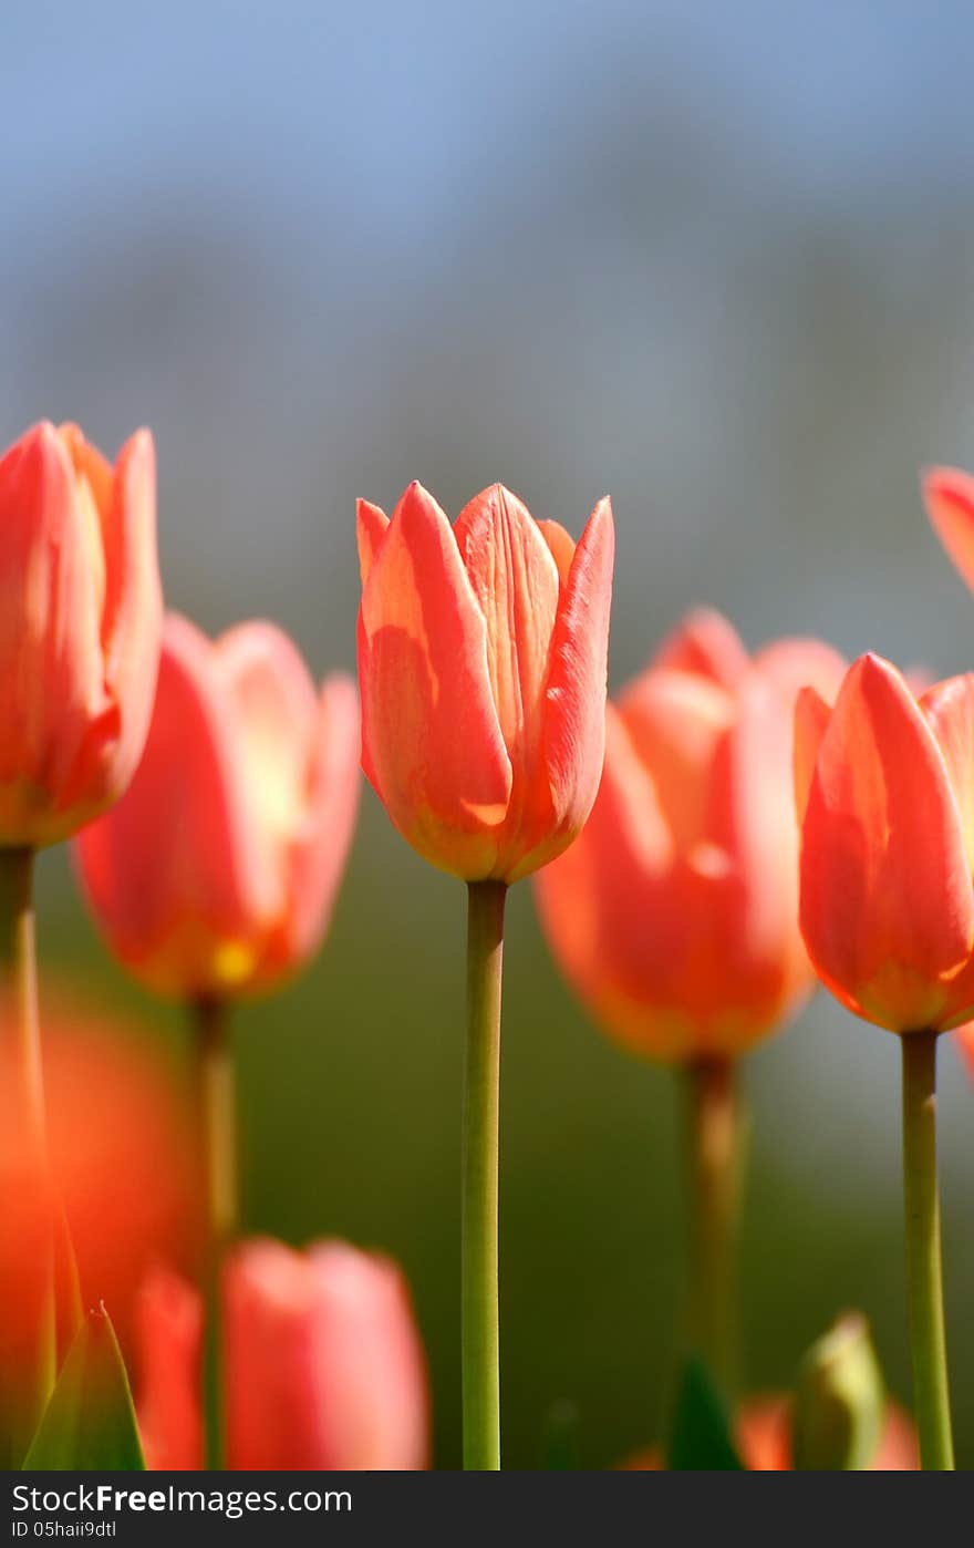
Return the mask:
[[578, 546], [492, 485], [451, 528], [420, 485], [359, 502], [362, 768], [396, 828], [466, 881], [516, 881], [588, 816], [604, 751], [613, 525]]

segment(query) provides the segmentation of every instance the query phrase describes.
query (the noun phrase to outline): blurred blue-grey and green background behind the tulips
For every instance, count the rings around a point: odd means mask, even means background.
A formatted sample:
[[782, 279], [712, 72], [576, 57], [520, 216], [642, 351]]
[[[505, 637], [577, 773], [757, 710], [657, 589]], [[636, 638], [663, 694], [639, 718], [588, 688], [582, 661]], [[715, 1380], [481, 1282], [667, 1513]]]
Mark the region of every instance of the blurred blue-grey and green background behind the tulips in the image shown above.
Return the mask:
[[[6, 0], [0, 441], [159, 452], [170, 605], [355, 661], [353, 503], [500, 478], [574, 534], [609, 491], [612, 683], [695, 602], [937, 675], [974, 599], [918, 469], [974, 466], [974, 12], [963, 0]], [[42, 864], [42, 964], [177, 1071]], [[248, 1224], [404, 1263], [458, 1461], [463, 892], [367, 793], [331, 938], [238, 1017]], [[74, 988], [71, 988], [74, 986]], [[660, 1433], [680, 1297], [672, 1076], [587, 1025], [511, 902], [505, 1460], [568, 1399], [585, 1466]], [[62, 994], [63, 1003], [63, 994]], [[132, 1034], [129, 1034], [132, 1036]], [[863, 1307], [909, 1393], [898, 1050], [824, 995], [748, 1063], [746, 1364]], [[974, 1464], [974, 1090], [941, 1062], [959, 1460]], [[93, 1125], [93, 1139], [94, 1144]], [[159, 1152], [163, 1155], [163, 1152]]]

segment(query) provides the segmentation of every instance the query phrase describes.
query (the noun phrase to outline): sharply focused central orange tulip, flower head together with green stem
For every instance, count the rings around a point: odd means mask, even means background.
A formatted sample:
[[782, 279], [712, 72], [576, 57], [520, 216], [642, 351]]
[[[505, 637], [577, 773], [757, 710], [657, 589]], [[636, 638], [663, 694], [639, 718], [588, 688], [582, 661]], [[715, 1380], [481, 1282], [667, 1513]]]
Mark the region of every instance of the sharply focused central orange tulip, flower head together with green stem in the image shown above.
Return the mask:
[[579, 833], [605, 748], [615, 528], [578, 545], [502, 485], [454, 526], [413, 483], [359, 500], [362, 768], [400, 833], [468, 882], [463, 1119], [463, 1458], [500, 1468], [497, 1153], [509, 882]]

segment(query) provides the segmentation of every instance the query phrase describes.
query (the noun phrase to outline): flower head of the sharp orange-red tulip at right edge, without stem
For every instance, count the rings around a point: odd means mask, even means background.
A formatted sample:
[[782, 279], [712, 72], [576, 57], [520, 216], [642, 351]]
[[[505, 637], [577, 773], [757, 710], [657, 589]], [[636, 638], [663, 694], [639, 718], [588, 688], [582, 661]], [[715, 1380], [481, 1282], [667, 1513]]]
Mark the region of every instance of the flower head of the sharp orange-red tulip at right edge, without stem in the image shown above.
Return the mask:
[[974, 1011], [974, 675], [917, 700], [856, 661], [827, 711], [799, 700], [801, 924], [822, 981], [890, 1031]]

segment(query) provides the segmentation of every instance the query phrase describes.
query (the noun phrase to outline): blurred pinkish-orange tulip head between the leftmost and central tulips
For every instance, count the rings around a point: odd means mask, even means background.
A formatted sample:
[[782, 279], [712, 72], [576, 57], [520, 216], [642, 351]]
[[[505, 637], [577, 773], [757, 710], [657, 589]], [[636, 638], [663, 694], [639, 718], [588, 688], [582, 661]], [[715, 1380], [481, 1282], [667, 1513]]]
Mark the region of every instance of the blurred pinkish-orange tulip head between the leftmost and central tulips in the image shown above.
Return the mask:
[[358, 807], [358, 706], [273, 624], [211, 642], [169, 615], [146, 754], [77, 841], [121, 961], [181, 997], [266, 988], [316, 949]]

